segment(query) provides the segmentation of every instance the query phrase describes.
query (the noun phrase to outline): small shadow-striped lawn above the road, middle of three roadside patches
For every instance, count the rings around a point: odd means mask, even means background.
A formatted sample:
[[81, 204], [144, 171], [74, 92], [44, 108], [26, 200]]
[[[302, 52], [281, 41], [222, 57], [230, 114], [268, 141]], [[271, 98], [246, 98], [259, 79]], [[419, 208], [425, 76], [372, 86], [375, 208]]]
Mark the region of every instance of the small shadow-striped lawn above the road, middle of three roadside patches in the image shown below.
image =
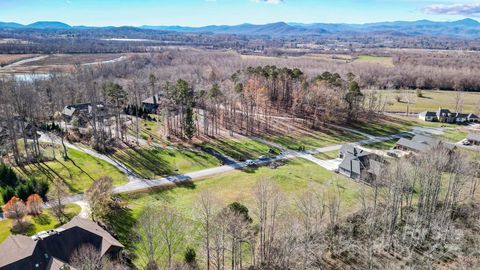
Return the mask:
[[202, 149], [213, 150], [214, 152], [235, 160], [257, 159], [260, 156], [278, 155], [281, 152], [275, 147], [249, 138], [210, 140], [197, 144], [196, 146]]

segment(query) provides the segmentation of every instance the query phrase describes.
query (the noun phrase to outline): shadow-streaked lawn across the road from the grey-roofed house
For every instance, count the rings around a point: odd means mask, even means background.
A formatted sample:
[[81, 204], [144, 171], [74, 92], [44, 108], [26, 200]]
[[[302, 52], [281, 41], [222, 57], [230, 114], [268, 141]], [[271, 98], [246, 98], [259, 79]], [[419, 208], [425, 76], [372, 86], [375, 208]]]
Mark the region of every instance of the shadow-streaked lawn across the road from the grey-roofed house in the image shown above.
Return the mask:
[[266, 139], [292, 150], [305, 147], [306, 150], [334, 144], [356, 142], [366, 139], [364, 136], [332, 127], [321, 127], [305, 133], [285, 132], [282, 135], [266, 136]]

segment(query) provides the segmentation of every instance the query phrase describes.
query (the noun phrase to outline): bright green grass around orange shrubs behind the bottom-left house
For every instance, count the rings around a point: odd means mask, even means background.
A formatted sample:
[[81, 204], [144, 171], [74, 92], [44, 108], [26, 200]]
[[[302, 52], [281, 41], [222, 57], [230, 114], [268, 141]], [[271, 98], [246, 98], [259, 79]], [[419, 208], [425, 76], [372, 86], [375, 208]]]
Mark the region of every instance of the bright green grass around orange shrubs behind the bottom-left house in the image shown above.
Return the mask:
[[[65, 207], [67, 219], [72, 219], [80, 213], [80, 206], [76, 204], [68, 204]], [[49, 209], [45, 209], [43, 214], [38, 217], [27, 216], [25, 221], [29, 224], [26, 235], [31, 236], [41, 231], [47, 231], [57, 228], [61, 223], [54, 217]], [[0, 243], [2, 243], [9, 235], [12, 234], [11, 228], [13, 220], [0, 220]]]

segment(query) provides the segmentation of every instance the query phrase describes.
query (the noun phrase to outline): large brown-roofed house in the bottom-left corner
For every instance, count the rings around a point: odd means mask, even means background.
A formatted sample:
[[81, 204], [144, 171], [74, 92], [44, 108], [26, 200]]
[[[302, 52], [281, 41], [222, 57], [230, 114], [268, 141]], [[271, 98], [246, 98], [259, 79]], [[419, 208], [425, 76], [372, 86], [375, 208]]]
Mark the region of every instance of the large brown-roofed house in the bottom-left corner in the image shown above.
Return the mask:
[[9, 236], [0, 245], [2, 270], [61, 270], [83, 245], [92, 245], [101, 257], [115, 257], [123, 249], [113, 236], [91, 220], [73, 218], [64, 226], [32, 237]]

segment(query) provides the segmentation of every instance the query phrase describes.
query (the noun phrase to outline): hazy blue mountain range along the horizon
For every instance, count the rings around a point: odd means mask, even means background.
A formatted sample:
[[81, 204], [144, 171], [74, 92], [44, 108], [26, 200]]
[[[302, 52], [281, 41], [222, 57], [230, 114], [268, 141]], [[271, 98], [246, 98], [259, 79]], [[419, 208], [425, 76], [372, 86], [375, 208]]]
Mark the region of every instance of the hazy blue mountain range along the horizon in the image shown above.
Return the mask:
[[[0, 22], [0, 28], [10, 29], [95, 29], [114, 27], [88, 27], [70, 26], [62, 22], [41, 21], [28, 25], [14, 22]], [[186, 26], [151, 26], [135, 27], [139, 29], [161, 30], [179, 33], [211, 33], [211, 34], [237, 34], [237, 35], [262, 35], [271, 37], [282, 36], [321, 36], [348, 34], [381, 34], [381, 35], [407, 35], [407, 36], [448, 36], [461, 38], [480, 38], [480, 23], [473, 19], [463, 19], [452, 22], [435, 22], [429, 20], [395, 21], [366, 24], [343, 23], [269, 23], [269, 24], [240, 24], [240, 25], [209, 25], [203, 27]]]

